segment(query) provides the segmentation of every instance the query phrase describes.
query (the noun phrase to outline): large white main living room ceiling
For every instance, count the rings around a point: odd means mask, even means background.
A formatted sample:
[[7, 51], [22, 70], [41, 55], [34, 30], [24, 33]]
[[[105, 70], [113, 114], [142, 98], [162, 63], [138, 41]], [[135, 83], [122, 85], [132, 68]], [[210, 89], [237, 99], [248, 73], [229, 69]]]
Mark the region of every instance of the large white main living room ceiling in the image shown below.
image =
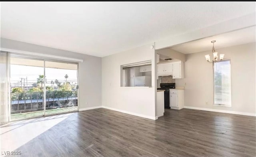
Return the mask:
[[1, 37], [103, 57], [253, 12], [255, 2], [1, 2]]

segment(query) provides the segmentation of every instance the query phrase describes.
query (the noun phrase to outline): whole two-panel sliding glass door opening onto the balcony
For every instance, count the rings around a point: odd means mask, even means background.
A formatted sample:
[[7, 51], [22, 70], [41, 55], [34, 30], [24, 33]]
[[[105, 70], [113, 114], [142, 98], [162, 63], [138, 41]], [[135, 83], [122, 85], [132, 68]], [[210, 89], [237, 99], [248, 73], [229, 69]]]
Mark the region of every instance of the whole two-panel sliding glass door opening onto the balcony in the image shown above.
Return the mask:
[[10, 119], [78, 110], [78, 64], [11, 54]]

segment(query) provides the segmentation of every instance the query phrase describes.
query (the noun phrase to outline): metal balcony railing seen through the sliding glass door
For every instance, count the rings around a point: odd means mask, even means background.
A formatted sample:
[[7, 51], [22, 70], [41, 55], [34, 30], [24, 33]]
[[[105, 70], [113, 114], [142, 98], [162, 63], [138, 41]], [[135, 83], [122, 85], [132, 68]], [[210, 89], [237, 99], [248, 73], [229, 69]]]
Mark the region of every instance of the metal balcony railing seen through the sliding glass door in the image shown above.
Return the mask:
[[[44, 110], [44, 93], [11, 93], [11, 106], [11, 114]], [[77, 106], [77, 91], [46, 92], [46, 110], [71, 106]]]

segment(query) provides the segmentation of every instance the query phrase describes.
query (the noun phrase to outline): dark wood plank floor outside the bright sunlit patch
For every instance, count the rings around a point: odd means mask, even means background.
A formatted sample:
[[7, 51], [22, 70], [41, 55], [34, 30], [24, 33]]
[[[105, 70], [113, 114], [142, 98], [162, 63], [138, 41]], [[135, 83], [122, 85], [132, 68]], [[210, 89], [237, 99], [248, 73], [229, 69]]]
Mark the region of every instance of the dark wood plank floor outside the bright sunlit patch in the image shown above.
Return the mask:
[[256, 120], [166, 109], [154, 121], [99, 108], [72, 114], [16, 151], [26, 157], [255, 157]]

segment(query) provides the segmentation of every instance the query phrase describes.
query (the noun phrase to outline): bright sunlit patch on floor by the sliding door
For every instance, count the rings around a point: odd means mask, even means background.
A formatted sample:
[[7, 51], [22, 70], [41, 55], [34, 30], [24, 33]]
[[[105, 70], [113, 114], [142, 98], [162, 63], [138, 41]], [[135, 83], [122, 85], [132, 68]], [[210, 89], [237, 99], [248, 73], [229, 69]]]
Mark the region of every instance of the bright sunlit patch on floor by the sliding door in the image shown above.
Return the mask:
[[1, 126], [1, 151], [14, 151], [74, 113], [10, 122]]

